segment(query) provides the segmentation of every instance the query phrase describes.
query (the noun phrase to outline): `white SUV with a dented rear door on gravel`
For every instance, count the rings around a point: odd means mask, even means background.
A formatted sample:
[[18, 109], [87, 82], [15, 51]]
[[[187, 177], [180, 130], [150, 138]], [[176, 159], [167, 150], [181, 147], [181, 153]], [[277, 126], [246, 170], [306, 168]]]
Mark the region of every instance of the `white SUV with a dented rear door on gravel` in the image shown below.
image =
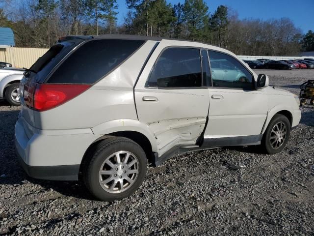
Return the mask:
[[31, 177], [130, 196], [147, 160], [222, 146], [281, 151], [301, 112], [233, 53], [126, 35], [61, 38], [21, 81], [16, 149]]

